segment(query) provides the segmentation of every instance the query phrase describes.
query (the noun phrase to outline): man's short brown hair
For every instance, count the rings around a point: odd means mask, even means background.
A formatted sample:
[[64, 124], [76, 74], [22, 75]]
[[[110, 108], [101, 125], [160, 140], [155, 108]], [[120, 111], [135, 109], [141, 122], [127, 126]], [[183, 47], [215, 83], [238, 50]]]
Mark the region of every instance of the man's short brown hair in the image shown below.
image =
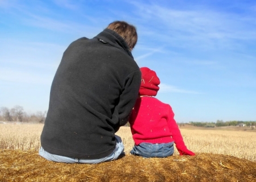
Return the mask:
[[125, 39], [125, 42], [128, 44], [130, 49], [135, 47], [138, 40], [136, 27], [123, 21], [114, 21], [110, 23], [107, 28], [114, 30], [123, 39]]

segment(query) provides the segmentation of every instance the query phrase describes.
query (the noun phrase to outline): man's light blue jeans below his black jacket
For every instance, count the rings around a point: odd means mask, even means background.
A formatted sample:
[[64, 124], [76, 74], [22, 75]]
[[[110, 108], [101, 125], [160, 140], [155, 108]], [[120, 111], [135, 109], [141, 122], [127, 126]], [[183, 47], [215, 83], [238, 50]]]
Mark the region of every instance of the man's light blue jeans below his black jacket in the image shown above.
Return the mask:
[[102, 163], [110, 160], [115, 160], [119, 157], [119, 155], [125, 154], [125, 152], [123, 152], [125, 148], [123, 147], [122, 139], [117, 135], [115, 135], [115, 140], [117, 142], [117, 144], [115, 145], [115, 150], [105, 158], [101, 158], [101, 159], [79, 159], [79, 158], [70, 158], [70, 157], [61, 156], [61, 155], [50, 154], [49, 152], [45, 151], [43, 147], [40, 148], [39, 155], [47, 160], [50, 160], [53, 162], [59, 162], [59, 163], [97, 164], [97, 163]]

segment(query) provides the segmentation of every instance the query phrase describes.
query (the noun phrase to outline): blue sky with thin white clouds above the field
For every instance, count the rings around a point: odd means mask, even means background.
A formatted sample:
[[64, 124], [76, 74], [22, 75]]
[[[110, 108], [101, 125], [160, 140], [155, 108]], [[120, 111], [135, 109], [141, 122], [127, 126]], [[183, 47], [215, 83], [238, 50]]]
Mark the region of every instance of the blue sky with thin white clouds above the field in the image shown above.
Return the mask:
[[0, 107], [47, 111], [65, 49], [114, 20], [137, 27], [176, 122], [256, 121], [254, 0], [0, 0]]

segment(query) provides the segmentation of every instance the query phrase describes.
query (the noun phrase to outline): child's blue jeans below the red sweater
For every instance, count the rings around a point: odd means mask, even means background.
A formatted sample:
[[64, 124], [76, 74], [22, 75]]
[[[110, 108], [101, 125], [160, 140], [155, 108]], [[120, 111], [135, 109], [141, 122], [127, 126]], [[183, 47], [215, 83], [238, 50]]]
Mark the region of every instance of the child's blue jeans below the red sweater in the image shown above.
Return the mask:
[[170, 143], [140, 143], [134, 145], [131, 154], [144, 158], [166, 158], [174, 154], [174, 142]]

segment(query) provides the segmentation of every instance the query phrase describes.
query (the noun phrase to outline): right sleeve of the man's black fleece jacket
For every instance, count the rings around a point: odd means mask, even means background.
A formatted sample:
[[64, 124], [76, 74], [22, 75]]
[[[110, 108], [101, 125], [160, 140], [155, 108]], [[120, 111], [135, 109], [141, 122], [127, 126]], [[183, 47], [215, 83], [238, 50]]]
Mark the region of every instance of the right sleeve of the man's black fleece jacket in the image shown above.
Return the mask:
[[126, 77], [118, 105], [115, 106], [113, 113], [113, 117], [117, 117], [119, 121], [119, 126], [117, 126], [115, 132], [118, 131], [120, 126], [124, 126], [129, 121], [131, 110], [138, 98], [140, 86], [141, 71], [135, 71]]

